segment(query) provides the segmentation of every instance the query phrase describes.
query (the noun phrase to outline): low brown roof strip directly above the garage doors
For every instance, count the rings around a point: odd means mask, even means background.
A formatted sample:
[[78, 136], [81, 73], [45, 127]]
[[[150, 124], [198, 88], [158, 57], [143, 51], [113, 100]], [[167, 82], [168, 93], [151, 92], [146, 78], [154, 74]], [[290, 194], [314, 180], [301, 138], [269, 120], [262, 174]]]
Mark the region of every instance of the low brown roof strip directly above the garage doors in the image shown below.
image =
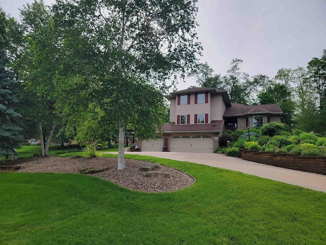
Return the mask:
[[175, 122], [162, 125], [161, 131], [165, 133], [177, 132], [221, 132], [224, 120], [211, 121], [210, 124], [183, 124], [175, 125]]

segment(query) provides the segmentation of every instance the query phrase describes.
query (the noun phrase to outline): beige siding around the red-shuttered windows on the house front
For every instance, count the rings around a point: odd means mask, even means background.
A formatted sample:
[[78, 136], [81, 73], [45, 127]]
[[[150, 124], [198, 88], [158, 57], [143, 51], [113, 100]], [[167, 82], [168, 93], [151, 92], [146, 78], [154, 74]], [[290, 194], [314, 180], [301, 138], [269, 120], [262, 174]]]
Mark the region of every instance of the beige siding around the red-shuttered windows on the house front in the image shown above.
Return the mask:
[[[177, 115], [190, 115], [190, 124], [195, 124], [195, 114], [208, 114], [208, 122], [210, 123], [210, 121], [211, 121], [210, 94], [208, 93], [208, 103], [207, 104], [205, 104], [205, 103], [195, 104], [195, 94], [193, 93], [190, 96], [191, 96], [190, 97], [190, 105], [176, 105], [174, 121], [177, 121]], [[170, 111], [170, 117], [171, 117], [171, 111]]]

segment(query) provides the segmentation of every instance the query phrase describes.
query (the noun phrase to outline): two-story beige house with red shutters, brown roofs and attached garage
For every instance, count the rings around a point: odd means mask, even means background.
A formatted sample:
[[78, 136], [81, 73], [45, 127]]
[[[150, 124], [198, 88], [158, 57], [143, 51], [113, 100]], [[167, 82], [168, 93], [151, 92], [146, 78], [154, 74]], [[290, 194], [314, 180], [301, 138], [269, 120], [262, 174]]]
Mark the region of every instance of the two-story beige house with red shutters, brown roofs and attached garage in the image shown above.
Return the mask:
[[224, 130], [247, 129], [281, 121], [278, 104], [246, 106], [231, 103], [227, 91], [189, 88], [170, 94], [170, 122], [156, 139], [143, 140], [142, 151], [212, 153]]

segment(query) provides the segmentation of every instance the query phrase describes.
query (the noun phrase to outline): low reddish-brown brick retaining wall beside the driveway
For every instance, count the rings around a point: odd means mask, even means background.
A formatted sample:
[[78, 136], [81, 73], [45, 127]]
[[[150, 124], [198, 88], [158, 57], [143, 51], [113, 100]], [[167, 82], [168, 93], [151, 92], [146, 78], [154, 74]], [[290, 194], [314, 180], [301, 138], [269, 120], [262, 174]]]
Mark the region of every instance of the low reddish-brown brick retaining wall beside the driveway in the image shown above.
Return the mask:
[[241, 150], [240, 153], [244, 160], [326, 175], [326, 157], [324, 156], [299, 156], [255, 150]]

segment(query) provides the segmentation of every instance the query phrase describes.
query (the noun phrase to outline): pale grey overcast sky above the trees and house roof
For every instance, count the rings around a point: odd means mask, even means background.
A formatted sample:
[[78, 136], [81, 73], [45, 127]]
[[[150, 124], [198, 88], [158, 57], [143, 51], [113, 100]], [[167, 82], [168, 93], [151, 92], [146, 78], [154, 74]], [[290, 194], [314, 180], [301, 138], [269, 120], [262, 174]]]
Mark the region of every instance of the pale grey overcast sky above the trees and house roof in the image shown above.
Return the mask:
[[[19, 19], [18, 8], [28, 2], [33, 1], [0, 0], [0, 5]], [[225, 75], [239, 58], [241, 71], [273, 78], [281, 68], [306, 68], [326, 49], [326, 0], [199, 0], [197, 6], [200, 60], [216, 74]], [[197, 85], [186, 81], [178, 90]]]

